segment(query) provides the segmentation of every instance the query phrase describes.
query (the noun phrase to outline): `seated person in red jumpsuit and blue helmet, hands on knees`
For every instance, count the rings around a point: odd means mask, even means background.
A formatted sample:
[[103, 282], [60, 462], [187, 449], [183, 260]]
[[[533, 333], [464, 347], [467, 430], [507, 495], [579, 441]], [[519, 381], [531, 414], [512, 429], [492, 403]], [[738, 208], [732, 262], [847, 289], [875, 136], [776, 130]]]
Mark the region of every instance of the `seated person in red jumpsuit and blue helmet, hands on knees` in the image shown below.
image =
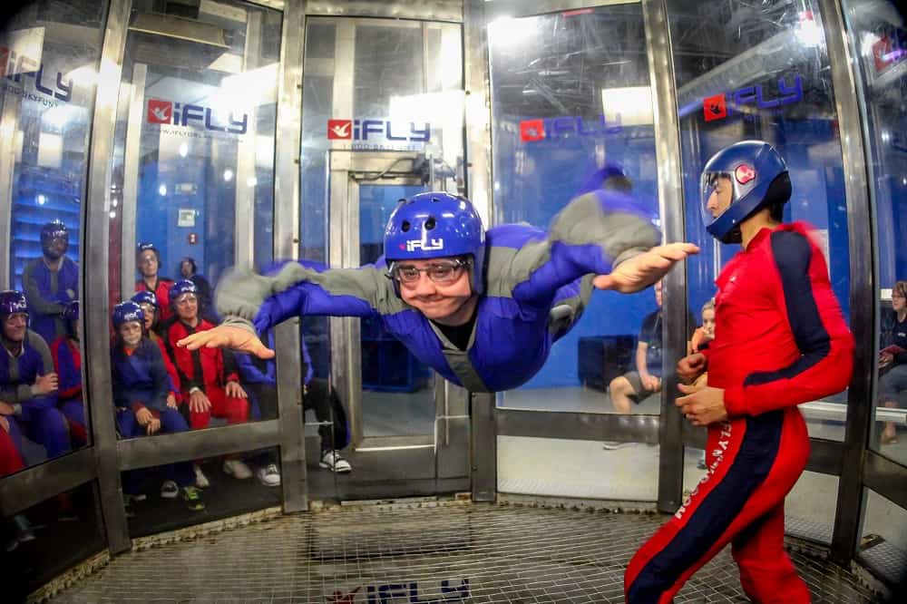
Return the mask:
[[[249, 395], [239, 385], [233, 353], [219, 348], [190, 350], [176, 345], [184, 337], [214, 327], [199, 316], [198, 288], [189, 279], [182, 279], [171, 287], [168, 297], [175, 320], [166, 328], [164, 343], [180, 376], [182, 399], [189, 407], [192, 430], [207, 428], [211, 415], [226, 418], [228, 424], [248, 422]], [[252, 476], [249, 466], [237, 456], [224, 460], [223, 471], [239, 479]]]

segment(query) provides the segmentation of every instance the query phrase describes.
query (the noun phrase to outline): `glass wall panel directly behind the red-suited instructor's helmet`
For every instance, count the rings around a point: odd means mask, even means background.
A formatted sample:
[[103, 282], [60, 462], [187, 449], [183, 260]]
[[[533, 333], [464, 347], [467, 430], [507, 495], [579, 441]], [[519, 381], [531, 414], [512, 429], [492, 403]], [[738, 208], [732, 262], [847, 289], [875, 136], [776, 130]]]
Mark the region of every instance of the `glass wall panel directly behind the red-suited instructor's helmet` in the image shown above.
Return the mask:
[[[740, 249], [718, 243], [700, 219], [701, 170], [727, 145], [760, 139], [772, 143], [787, 162], [794, 192], [784, 219], [813, 227], [834, 294], [849, 317], [848, 200], [818, 3], [668, 0], [667, 7], [687, 239], [702, 247], [687, 263], [689, 306], [699, 309], [715, 296], [715, 278]], [[842, 440], [845, 403], [846, 394], [840, 393], [801, 405], [809, 434]]]

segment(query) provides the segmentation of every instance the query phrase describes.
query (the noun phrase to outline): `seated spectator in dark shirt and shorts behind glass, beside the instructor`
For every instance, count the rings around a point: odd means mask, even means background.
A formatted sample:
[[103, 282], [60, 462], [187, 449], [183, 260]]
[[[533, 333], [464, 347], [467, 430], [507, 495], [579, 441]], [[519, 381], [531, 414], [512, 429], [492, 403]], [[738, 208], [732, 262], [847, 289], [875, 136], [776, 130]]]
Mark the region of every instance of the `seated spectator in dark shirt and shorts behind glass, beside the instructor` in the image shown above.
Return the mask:
[[[649, 395], [661, 391], [661, 281], [655, 284], [655, 303], [658, 309], [642, 320], [636, 348], [636, 371], [629, 371], [611, 380], [608, 391], [614, 410], [620, 414], [632, 413], [632, 404], [639, 404]], [[688, 326], [696, 325], [696, 318], [688, 313]]]

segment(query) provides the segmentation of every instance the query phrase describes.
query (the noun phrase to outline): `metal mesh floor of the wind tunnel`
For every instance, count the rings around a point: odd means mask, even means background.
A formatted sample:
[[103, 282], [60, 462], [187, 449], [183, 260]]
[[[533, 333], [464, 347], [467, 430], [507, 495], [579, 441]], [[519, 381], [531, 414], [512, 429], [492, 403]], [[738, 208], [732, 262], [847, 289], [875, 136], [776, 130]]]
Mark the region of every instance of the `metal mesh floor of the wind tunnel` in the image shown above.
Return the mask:
[[[665, 521], [518, 505], [357, 507], [280, 517], [119, 556], [54, 602], [622, 602], [625, 565]], [[870, 602], [792, 553], [814, 602]], [[746, 602], [729, 550], [677, 602]]]

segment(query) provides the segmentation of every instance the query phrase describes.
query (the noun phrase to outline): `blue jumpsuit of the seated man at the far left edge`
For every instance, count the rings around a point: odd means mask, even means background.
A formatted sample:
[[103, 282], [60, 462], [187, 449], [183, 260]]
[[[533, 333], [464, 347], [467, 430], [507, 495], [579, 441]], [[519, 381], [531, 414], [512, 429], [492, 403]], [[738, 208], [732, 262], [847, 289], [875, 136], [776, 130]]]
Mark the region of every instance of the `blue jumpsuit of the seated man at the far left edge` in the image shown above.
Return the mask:
[[10, 436], [22, 453], [22, 430], [35, 443], [43, 444], [48, 457], [70, 450], [66, 418], [57, 409], [56, 393], [35, 395], [32, 385], [38, 375], [54, 373], [54, 360], [44, 338], [32, 330], [25, 333], [22, 349], [14, 356], [3, 346], [0, 351], [0, 400], [21, 404], [18, 414], [9, 415]]

